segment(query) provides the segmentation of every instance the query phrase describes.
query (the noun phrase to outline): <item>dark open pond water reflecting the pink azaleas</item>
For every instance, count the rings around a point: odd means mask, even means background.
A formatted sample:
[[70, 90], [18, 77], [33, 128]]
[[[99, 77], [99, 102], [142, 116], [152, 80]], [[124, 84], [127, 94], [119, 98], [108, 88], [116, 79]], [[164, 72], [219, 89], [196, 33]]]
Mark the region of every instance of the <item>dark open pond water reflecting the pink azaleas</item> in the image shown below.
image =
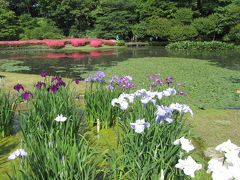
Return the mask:
[[47, 71], [51, 75], [81, 78], [89, 71], [104, 70], [129, 58], [141, 57], [185, 57], [208, 60], [223, 68], [240, 70], [239, 52], [169, 52], [163, 47], [123, 48], [91, 52], [39, 52], [0, 53], [0, 71], [39, 74]]

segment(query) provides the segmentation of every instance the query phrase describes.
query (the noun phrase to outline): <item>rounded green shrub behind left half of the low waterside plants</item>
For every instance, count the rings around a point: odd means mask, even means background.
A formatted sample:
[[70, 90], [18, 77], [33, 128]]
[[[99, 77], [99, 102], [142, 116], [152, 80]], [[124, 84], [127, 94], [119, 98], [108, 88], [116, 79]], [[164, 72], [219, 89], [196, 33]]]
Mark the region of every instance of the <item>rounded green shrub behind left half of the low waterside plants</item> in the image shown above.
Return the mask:
[[193, 26], [176, 25], [169, 30], [169, 41], [193, 40], [197, 35], [197, 30]]

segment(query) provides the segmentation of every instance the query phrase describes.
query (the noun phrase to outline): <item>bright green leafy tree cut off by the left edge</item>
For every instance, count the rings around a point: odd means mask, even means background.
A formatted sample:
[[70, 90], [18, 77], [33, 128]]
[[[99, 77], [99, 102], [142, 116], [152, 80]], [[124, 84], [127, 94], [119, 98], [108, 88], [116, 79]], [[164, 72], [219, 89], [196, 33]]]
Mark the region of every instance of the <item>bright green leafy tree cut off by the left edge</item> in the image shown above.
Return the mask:
[[15, 13], [11, 10], [0, 9], [0, 40], [18, 39], [18, 22]]

